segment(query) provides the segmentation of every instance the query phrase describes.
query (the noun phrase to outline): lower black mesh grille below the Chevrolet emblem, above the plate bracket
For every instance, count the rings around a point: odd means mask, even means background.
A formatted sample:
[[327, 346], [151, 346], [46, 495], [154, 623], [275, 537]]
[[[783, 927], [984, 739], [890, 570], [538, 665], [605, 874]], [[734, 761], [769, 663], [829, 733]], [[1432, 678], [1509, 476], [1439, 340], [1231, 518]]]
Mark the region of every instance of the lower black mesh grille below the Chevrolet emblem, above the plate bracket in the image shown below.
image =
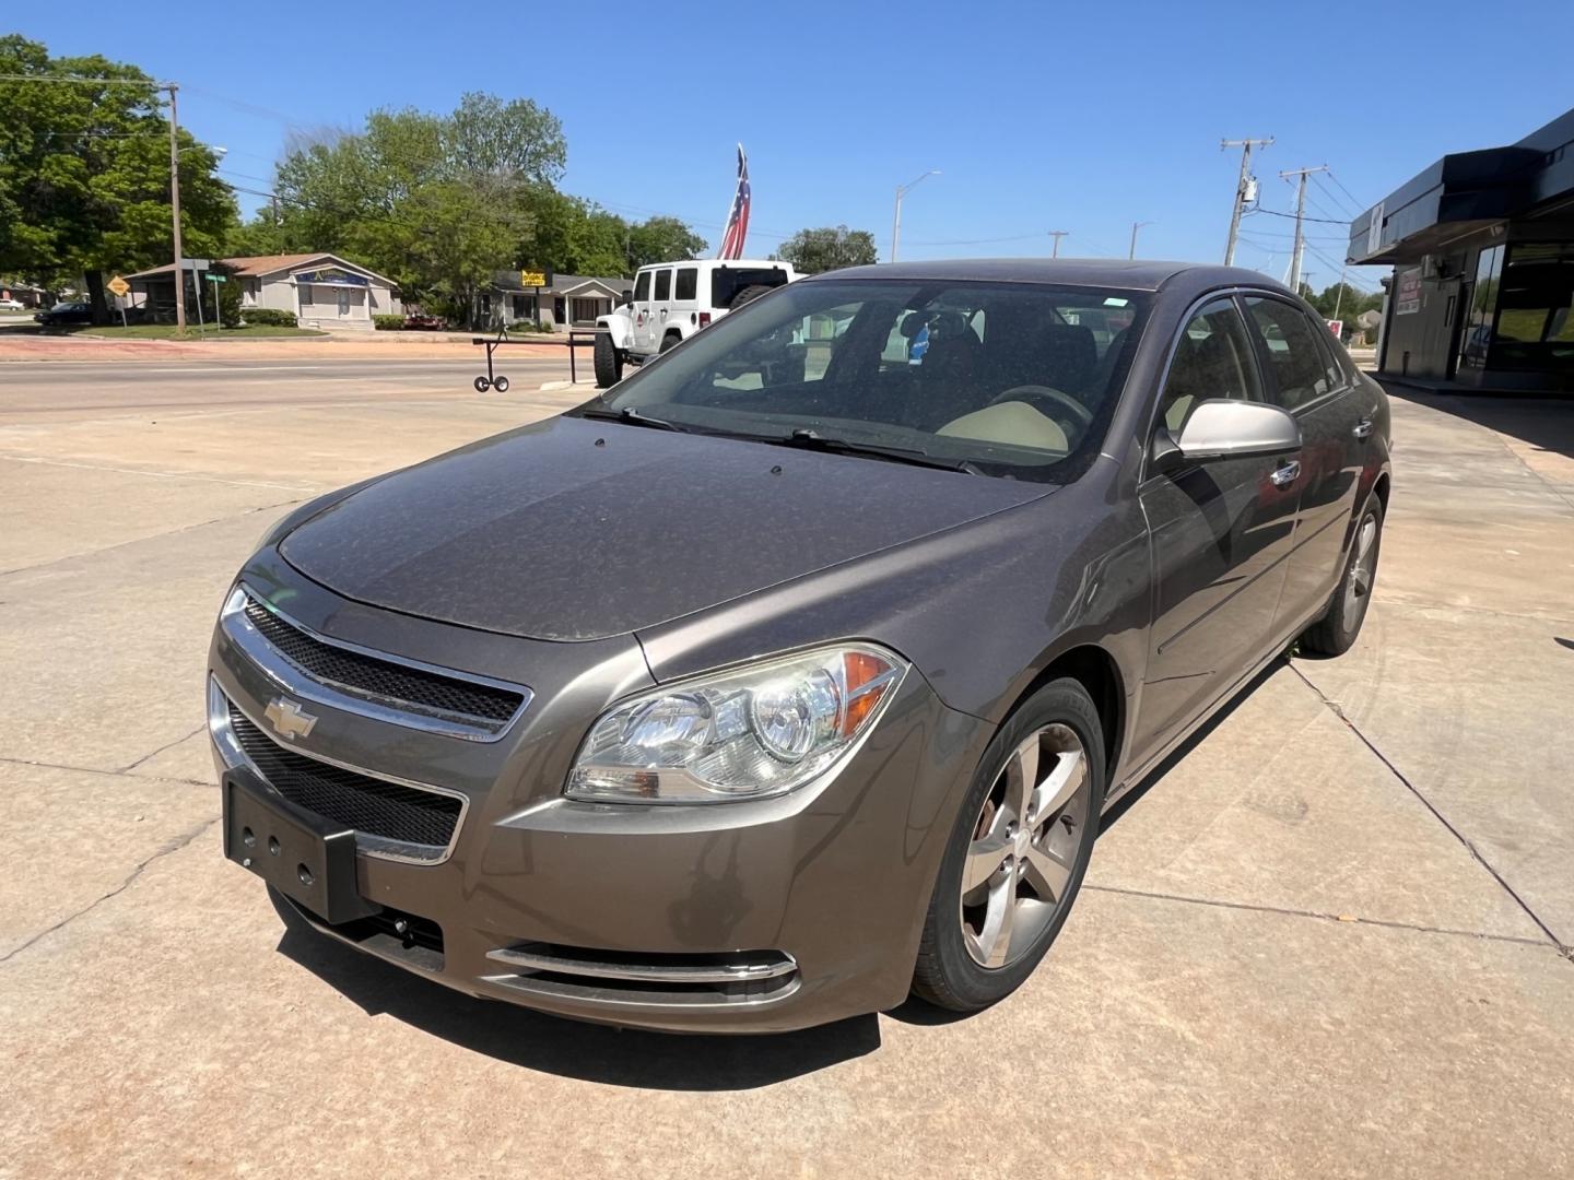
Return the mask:
[[230, 727], [257, 773], [290, 802], [357, 834], [420, 845], [416, 859], [439, 859], [453, 840], [464, 801], [375, 779], [282, 747], [235, 705]]

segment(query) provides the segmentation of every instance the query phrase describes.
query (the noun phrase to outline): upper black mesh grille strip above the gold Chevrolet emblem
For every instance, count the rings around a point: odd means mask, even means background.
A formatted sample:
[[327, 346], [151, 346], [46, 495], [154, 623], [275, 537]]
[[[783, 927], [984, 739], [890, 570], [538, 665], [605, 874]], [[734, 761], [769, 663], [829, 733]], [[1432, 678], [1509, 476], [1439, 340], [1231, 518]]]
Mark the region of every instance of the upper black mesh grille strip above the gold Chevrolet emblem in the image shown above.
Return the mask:
[[491, 684], [477, 684], [439, 672], [395, 664], [360, 651], [324, 643], [275, 615], [247, 595], [246, 618], [279, 655], [301, 672], [332, 688], [378, 697], [397, 708], [458, 714], [501, 728], [524, 695]]

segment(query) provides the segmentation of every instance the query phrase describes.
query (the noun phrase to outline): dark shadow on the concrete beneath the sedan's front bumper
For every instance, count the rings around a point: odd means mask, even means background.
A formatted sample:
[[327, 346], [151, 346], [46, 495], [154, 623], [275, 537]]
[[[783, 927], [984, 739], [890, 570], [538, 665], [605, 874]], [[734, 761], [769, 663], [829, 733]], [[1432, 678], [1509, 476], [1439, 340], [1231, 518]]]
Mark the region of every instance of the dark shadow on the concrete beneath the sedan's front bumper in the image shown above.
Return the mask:
[[644, 1032], [563, 1020], [420, 979], [335, 942], [286, 908], [275, 909], [285, 922], [279, 953], [368, 1016], [392, 1016], [527, 1070], [653, 1090], [749, 1090], [880, 1048], [874, 1015], [763, 1037]]

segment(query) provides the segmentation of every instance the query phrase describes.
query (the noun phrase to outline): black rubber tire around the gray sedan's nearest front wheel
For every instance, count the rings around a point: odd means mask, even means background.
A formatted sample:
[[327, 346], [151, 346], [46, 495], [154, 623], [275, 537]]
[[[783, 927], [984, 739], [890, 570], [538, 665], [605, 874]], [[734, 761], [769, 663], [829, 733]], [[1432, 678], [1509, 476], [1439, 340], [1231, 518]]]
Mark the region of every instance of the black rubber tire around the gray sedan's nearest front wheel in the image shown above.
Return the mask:
[[[998, 810], [990, 809], [995, 806], [993, 801], [1001, 784], [1007, 780], [1007, 766], [1014, 758], [1014, 752], [1036, 733], [1044, 736], [1062, 730], [1073, 733], [1081, 746], [1083, 779], [1077, 788], [1077, 796], [1073, 796], [1072, 802], [1062, 812], [1047, 813], [1044, 820], [1044, 840], [1048, 842], [1051, 839], [1050, 832], [1055, 832], [1061, 853], [1056, 861], [1069, 872], [1059, 886], [1059, 897], [1053, 903], [1029, 897], [1036, 925], [1031, 928], [1023, 927], [1022, 947], [1014, 949], [1009, 960], [1001, 966], [990, 968], [974, 958], [976, 952], [970, 950], [968, 939], [974, 938], [974, 947], [977, 946], [977, 939], [974, 935], [965, 933], [970, 908], [965, 902], [966, 895], [962, 892], [962, 875], [968, 862], [970, 846], [976, 839], [988, 839], [992, 817], [993, 823], [998, 824], [1001, 817], [1009, 813], [1004, 806]], [[1036, 749], [1042, 752], [1044, 747], [1036, 746]], [[1055, 766], [1058, 765], [1059, 761], [1055, 763]], [[973, 777], [973, 785], [968, 788], [962, 810], [957, 815], [946, 854], [940, 864], [935, 894], [929, 902], [929, 914], [924, 919], [924, 936], [919, 942], [918, 964], [913, 972], [913, 991], [918, 996], [952, 1012], [977, 1012], [1009, 996], [1033, 974], [1033, 969], [1044, 958], [1055, 936], [1059, 935], [1061, 925], [1064, 925], [1066, 916], [1070, 913], [1072, 903], [1081, 889], [1083, 875], [1088, 872], [1088, 861], [1092, 856], [1092, 845], [1099, 834], [1099, 809], [1103, 802], [1105, 790], [1103, 776], [1103, 727], [1099, 722], [1099, 710], [1094, 706], [1088, 691], [1075, 680], [1050, 681], [1028, 697], [1006, 724], [1001, 725], [995, 739], [984, 752], [979, 769]], [[1073, 806], [1078, 802], [1080, 810]], [[1072, 818], [1073, 813], [1075, 821]], [[1015, 824], [1011, 826], [1011, 831], [1015, 831]], [[1034, 840], [1034, 846], [1037, 843]], [[1006, 856], [1004, 864], [998, 870], [1012, 873], [1009, 878], [1011, 897], [1007, 897], [1007, 905], [1015, 905], [1015, 898], [1020, 895], [1017, 891], [1023, 887], [1022, 883], [1028, 881], [1023, 876], [1018, 883], [1014, 868], [1011, 868], [1017, 862], [1015, 856]], [[992, 876], [990, 879], [995, 878]], [[993, 897], [992, 886], [985, 884], [981, 889], [987, 889], [990, 897]], [[1029, 894], [1033, 892], [1029, 887]], [[1023, 919], [1018, 917], [1017, 920]], [[1012, 936], [1007, 935], [1006, 941], [1015, 947]]]

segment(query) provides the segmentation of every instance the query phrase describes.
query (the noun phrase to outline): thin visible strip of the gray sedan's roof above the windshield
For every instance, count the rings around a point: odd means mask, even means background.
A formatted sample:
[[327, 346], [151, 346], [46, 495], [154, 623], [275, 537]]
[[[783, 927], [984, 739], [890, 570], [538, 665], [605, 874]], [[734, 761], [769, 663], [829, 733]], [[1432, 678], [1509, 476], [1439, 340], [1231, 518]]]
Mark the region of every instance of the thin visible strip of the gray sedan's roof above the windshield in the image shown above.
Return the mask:
[[1242, 266], [1127, 261], [1125, 258], [955, 258], [933, 263], [881, 263], [826, 271], [803, 282], [825, 282], [826, 278], [1050, 283], [1055, 286], [1116, 286], [1127, 291], [1160, 291], [1171, 285], [1198, 291], [1212, 286], [1261, 286], [1270, 291], [1288, 291], [1261, 271], [1248, 271]]

